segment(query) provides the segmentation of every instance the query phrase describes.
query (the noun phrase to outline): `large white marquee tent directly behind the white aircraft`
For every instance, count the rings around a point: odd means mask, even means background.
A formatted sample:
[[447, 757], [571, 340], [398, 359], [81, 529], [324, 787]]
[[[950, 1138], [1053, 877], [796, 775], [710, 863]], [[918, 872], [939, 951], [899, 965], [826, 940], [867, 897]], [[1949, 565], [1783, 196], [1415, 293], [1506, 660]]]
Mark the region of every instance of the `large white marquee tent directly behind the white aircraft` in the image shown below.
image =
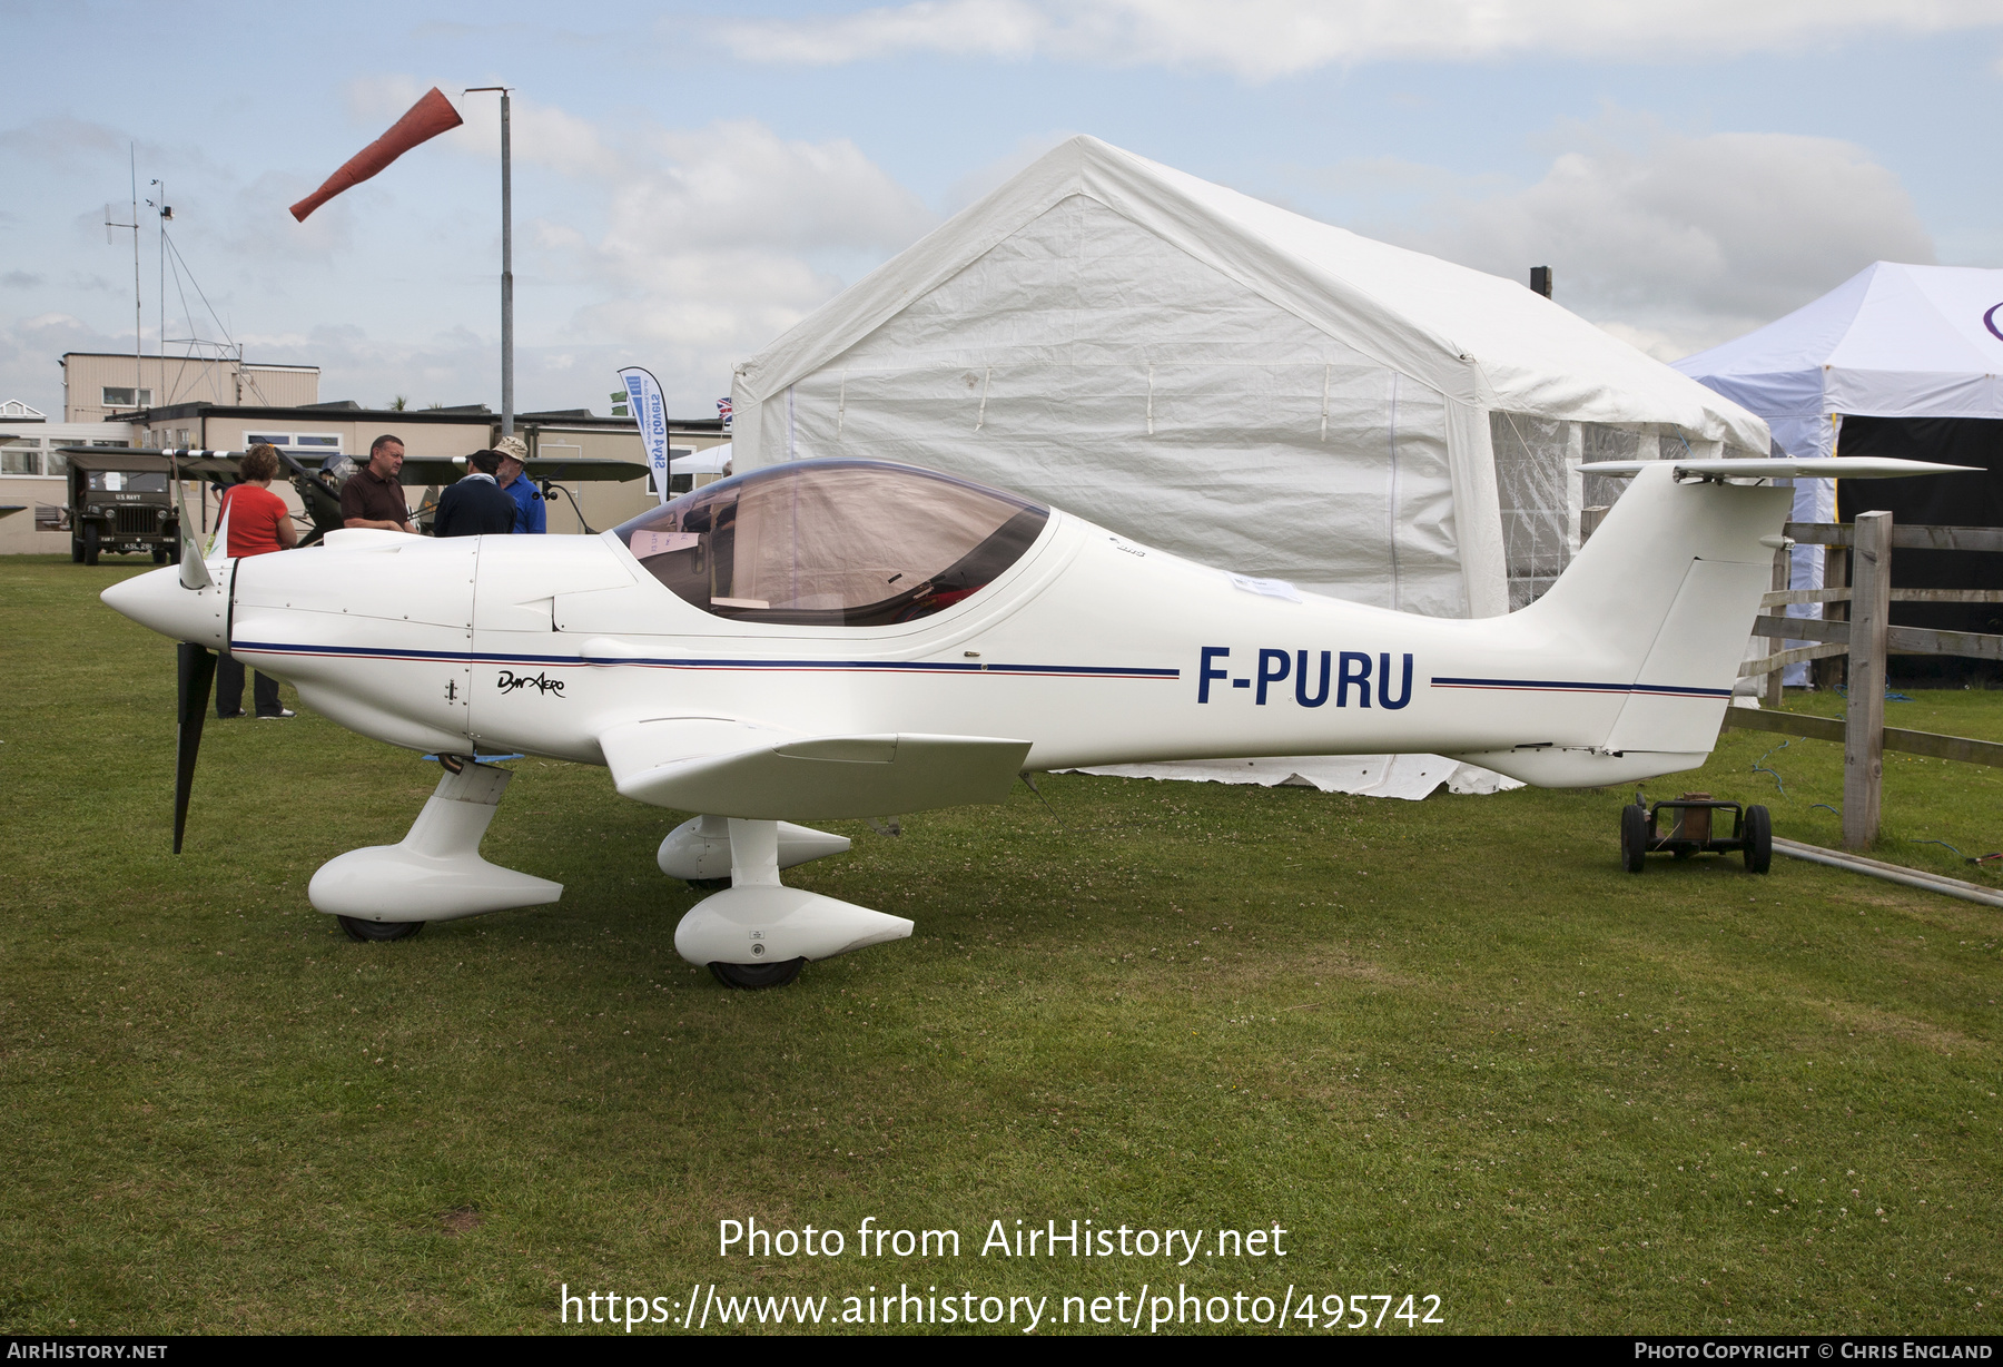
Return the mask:
[[[1582, 459], [1765, 425], [1514, 281], [1072, 138], [737, 367], [739, 471], [881, 457], [1162, 549], [1496, 615], [1578, 545]], [[1596, 483], [1596, 481], [1594, 481]]]

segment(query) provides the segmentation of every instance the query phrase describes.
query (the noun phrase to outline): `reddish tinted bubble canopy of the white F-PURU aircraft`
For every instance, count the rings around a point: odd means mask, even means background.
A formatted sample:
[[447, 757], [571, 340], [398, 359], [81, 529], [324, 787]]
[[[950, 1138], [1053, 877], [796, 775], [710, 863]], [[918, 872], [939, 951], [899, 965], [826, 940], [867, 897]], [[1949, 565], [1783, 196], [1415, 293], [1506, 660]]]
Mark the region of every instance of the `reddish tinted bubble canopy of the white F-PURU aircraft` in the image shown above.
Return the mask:
[[1050, 509], [887, 461], [793, 461], [721, 479], [617, 527], [633, 557], [717, 617], [875, 627], [987, 587]]

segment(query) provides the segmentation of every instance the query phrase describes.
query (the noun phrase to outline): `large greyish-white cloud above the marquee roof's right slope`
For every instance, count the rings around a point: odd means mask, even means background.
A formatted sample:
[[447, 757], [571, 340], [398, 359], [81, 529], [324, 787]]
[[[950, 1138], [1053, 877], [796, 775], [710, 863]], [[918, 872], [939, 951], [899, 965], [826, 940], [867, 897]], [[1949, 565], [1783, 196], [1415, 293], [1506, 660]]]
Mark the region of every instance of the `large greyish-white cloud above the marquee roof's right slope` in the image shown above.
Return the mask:
[[1444, 196], [1376, 237], [1526, 281], [1642, 351], [1681, 357], [1827, 293], [1873, 261], [1933, 261], [1899, 176], [1833, 138], [1656, 134], [1560, 154], [1532, 186]]

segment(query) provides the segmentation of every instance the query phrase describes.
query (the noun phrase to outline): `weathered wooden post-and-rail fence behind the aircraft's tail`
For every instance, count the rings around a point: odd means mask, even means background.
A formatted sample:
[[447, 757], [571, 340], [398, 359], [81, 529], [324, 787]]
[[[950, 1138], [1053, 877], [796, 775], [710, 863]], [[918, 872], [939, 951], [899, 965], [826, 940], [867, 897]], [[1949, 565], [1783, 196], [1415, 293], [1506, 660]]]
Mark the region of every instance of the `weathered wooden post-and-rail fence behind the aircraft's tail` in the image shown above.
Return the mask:
[[[1787, 712], [1727, 708], [1725, 726], [1747, 732], [1779, 732], [1811, 740], [1843, 742], [1843, 846], [1869, 848], [1879, 834], [1885, 752], [1921, 754], [2003, 768], [2003, 746], [1963, 736], [1907, 732], [1885, 726], [1885, 655], [1967, 655], [2003, 659], [2003, 635], [1975, 631], [1927, 631], [1895, 627], [1887, 621], [1893, 603], [2003, 603], [2003, 589], [1895, 589], [1891, 553], [2003, 551], [2003, 527], [1895, 527], [1891, 513], [1859, 513], [1855, 523], [1789, 523], [1787, 535], [1801, 545], [1829, 547], [1821, 589], [1787, 587], [1787, 555], [1775, 553], [1775, 589], [1765, 607], [1823, 603], [1823, 619], [1761, 615], [1753, 635], [1769, 641], [1817, 641], [1793, 649], [1771, 647], [1749, 659], [1739, 675], [1767, 675], [1767, 706], [1781, 704], [1781, 671], [1787, 665], [1835, 657], [1847, 661], [1849, 708], [1835, 718], [1805, 718]], [[1823, 673], [1833, 684], [1833, 671]]]

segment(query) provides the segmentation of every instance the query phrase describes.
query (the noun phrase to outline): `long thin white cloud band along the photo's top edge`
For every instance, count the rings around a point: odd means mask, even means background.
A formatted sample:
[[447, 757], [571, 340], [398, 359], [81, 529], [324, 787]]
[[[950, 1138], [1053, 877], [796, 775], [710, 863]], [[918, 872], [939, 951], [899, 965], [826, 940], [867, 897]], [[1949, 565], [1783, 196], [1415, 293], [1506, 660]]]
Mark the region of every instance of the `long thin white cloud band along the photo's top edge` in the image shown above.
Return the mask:
[[1801, 52], [1861, 34], [2003, 26], [1997, 0], [919, 0], [807, 20], [723, 20], [751, 62], [929, 52], [1226, 70], [1268, 80], [1378, 60], [1685, 60]]

